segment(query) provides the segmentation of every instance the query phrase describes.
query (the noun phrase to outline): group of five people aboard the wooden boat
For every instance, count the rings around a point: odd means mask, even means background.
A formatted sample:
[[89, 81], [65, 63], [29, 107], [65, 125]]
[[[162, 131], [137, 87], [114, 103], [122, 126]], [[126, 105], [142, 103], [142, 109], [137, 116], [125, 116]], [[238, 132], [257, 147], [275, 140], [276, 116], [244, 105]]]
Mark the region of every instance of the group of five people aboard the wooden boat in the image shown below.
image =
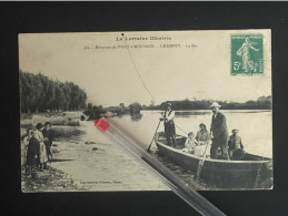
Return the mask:
[[[241, 137], [238, 135], [239, 130], [232, 130], [232, 135], [229, 136], [226, 116], [219, 112], [221, 105], [217, 102], [210, 105], [212, 110], [212, 119], [210, 133], [206, 125], [201, 123], [200, 130], [195, 135], [193, 132], [188, 133], [185, 144], [185, 152], [196, 153], [197, 146], [206, 146], [211, 143], [210, 158], [216, 160], [242, 160], [245, 155]], [[171, 103], [166, 104], [163, 117], [165, 135], [167, 145], [176, 147], [176, 128], [175, 128], [175, 112], [171, 109]], [[200, 152], [197, 154], [203, 155], [203, 148], [198, 148]]]

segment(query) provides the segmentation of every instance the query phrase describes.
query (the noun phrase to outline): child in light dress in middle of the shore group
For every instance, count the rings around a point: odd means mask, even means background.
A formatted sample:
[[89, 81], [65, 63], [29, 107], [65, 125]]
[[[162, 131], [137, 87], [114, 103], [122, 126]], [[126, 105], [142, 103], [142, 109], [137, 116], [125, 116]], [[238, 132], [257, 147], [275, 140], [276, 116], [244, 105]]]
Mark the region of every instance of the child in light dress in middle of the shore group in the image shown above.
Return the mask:
[[47, 169], [47, 162], [48, 162], [48, 157], [47, 157], [47, 151], [46, 151], [46, 145], [44, 145], [44, 141], [47, 141], [47, 138], [44, 140], [42, 131], [43, 131], [43, 125], [41, 123], [38, 123], [36, 125], [36, 131], [34, 131], [34, 137], [40, 142], [40, 155], [39, 155], [39, 171], [42, 171], [42, 168]]

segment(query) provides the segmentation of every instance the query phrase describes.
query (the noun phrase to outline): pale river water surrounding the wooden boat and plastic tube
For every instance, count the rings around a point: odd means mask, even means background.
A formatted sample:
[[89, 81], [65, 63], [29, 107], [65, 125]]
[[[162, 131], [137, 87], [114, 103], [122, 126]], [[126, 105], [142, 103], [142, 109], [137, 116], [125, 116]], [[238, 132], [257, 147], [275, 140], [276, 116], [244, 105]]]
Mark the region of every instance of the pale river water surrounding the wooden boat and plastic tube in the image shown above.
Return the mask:
[[[246, 152], [272, 157], [271, 111], [221, 111], [227, 117], [229, 132], [239, 130]], [[120, 125], [122, 131], [131, 136], [141, 147], [147, 148], [153, 137], [161, 116], [160, 111], [142, 111], [141, 116], [116, 116], [111, 121]], [[211, 111], [176, 112], [175, 123], [177, 134], [186, 135], [197, 132], [198, 125], [205, 123], [209, 128]], [[58, 130], [57, 126], [53, 127]], [[52, 150], [54, 157], [70, 160], [54, 162], [51, 166], [69, 174], [78, 184], [90, 191], [159, 191], [167, 187], [151, 173], [121, 150], [108, 141], [102, 133], [93, 127], [93, 122], [83, 122], [80, 126], [69, 127], [79, 133], [56, 138]], [[61, 128], [62, 130], [62, 128]], [[160, 124], [158, 130], [163, 131]], [[87, 143], [88, 142], [88, 143]], [[196, 189], [211, 189], [202, 182], [195, 182], [192, 174], [181, 169], [166, 158], [160, 158], [155, 144], [155, 154], [169, 168], [180, 175]]]

